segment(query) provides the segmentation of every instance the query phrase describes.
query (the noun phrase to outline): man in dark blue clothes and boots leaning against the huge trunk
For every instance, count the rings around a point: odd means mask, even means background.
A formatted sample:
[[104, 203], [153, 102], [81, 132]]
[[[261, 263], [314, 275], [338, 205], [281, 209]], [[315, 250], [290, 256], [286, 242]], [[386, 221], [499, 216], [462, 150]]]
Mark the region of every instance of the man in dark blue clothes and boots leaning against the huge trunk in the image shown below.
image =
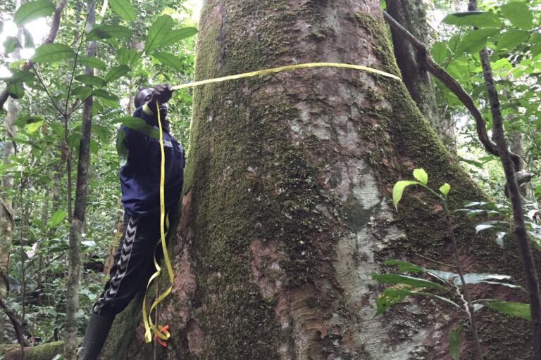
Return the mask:
[[[165, 205], [171, 212], [182, 191], [185, 165], [184, 150], [170, 134], [167, 102], [172, 89], [159, 84], [154, 89], [141, 89], [135, 96], [134, 117], [146, 126], [132, 129], [121, 126], [117, 134], [120, 157], [120, 188], [124, 207], [124, 230], [109, 272], [104, 291], [92, 307], [79, 360], [97, 359], [116, 314], [123, 311], [154, 273], [154, 250], [160, 238], [160, 161], [158, 139], [149, 136], [149, 130], [158, 127], [160, 112], [165, 151]], [[159, 106], [156, 105], [156, 100]]]

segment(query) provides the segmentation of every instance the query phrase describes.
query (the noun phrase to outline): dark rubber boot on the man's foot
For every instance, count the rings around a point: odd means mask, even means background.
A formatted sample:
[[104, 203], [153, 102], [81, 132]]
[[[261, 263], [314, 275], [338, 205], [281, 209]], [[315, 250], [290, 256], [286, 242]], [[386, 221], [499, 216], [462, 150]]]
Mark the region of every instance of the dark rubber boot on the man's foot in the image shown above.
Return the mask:
[[113, 325], [113, 320], [114, 318], [111, 319], [94, 313], [90, 315], [87, 330], [85, 331], [85, 338], [82, 340], [79, 360], [98, 359], [101, 348], [104, 347], [109, 329]]

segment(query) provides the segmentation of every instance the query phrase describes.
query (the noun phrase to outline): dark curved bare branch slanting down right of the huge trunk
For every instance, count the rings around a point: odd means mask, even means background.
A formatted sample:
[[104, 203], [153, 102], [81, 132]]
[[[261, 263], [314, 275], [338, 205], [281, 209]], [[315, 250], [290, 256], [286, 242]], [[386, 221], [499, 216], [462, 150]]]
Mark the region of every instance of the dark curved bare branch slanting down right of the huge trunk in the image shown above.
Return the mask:
[[[421, 65], [423, 65], [430, 74], [432, 74], [434, 77], [439, 79], [449, 90], [452, 91], [453, 94], [456, 95], [457, 98], [466, 106], [466, 108], [469, 110], [470, 114], [475, 119], [475, 125], [477, 128], [477, 134], [479, 136], [479, 140], [481, 143], [483, 143], [483, 146], [485, 146], [485, 149], [491, 153], [492, 155], [499, 156], [499, 150], [497, 145], [490, 140], [490, 138], [487, 135], [487, 129], [486, 129], [486, 122], [485, 119], [483, 119], [483, 115], [481, 115], [479, 109], [477, 106], [475, 106], [475, 103], [473, 102], [473, 99], [471, 96], [469, 96], [468, 93], [462, 88], [462, 86], [459, 84], [459, 82], [454, 79], [447, 71], [444, 70], [440, 65], [435, 63], [435, 61], [430, 57], [428, 54], [428, 49], [426, 48], [425, 44], [421, 43], [421, 41], [418, 41], [416, 37], [411, 34], [406, 28], [404, 28], [402, 25], [400, 25], [397, 20], [394, 20], [391, 15], [389, 15], [387, 12], [383, 11], [383, 16], [385, 17], [385, 20], [387, 20], [387, 23], [394, 29], [397, 30], [399, 34], [402, 34], [402, 37], [409, 41], [413, 48], [417, 51], [417, 58]], [[521, 165], [523, 164], [523, 160], [520, 156], [516, 155], [515, 153], [509, 152], [509, 155], [511, 155], [511, 160], [514, 162], [514, 166], [516, 171], [521, 169]]]

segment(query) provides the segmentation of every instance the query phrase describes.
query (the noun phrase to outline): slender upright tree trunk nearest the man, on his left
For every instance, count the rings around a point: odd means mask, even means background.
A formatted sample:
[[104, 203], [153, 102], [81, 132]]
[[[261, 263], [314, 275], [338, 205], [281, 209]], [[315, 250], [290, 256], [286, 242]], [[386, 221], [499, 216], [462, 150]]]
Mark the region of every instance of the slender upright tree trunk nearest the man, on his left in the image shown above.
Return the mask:
[[[87, 2], [87, 26], [90, 32], [96, 20], [94, 1]], [[87, 43], [87, 56], [95, 56], [97, 52], [96, 41]], [[86, 75], [94, 75], [92, 68], [85, 67]], [[79, 281], [81, 271], [80, 243], [82, 231], [85, 226], [85, 212], [87, 207], [88, 166], [90, 158], [90, 131], [92, 128], [92, 101], [90, 96], [82, 105], [81, 140], [79, 143], [79, 157], [77, 162], [77, 187], [75, 189], [75, 206], [70, 226], [69, 270], [66, 293], [66, 335], [64, 344], [64, 357], [67, 360], [76, 360], [77, 355], [77, 309], [79, 307]]]

